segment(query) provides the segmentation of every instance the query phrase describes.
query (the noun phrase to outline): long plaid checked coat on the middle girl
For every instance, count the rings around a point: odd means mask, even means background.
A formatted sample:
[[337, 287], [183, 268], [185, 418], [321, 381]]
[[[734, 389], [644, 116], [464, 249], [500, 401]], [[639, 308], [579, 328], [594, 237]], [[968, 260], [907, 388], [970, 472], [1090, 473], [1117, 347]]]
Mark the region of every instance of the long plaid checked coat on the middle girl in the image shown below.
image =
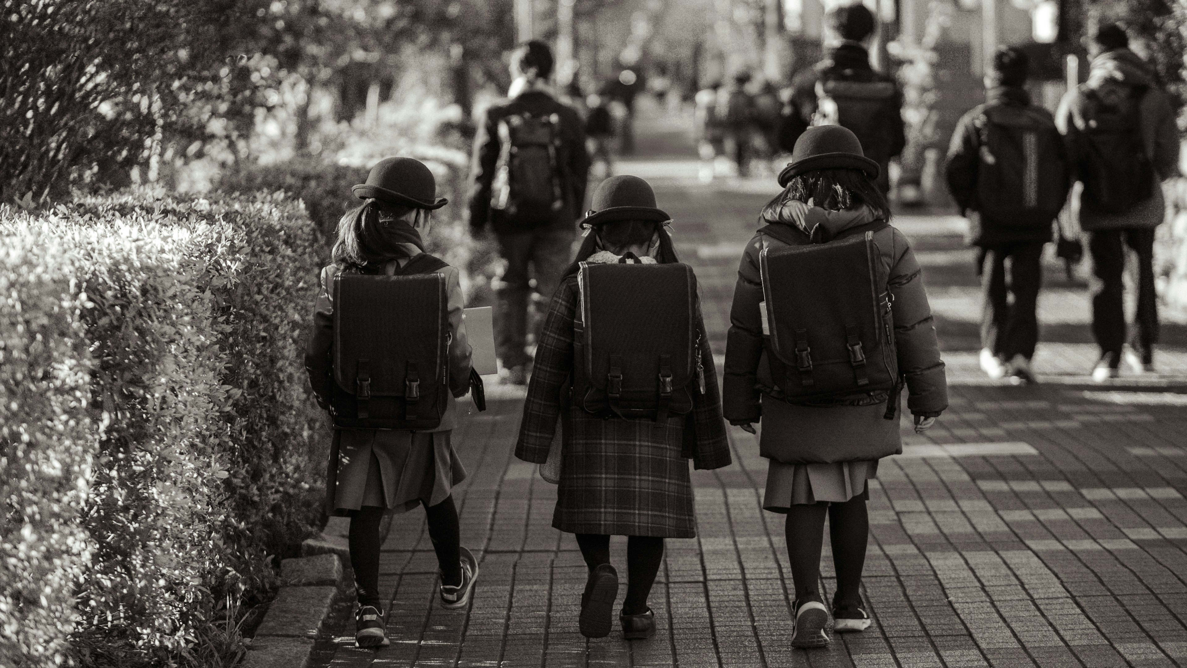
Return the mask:
[[658, 426], [650, 420], [603, 419], [569, 401], [577, 303], [577, 276], [570, 275], [557, 288], [544, 324], [515, 456], [537, 464], [547, 460], [560, 418], [564, 456], [553, 527], [576, 534], [696, 537], [686, 459], [697, 469], [730, 464], [699, 305], [705, 394], [694, 392], [692, 412]]

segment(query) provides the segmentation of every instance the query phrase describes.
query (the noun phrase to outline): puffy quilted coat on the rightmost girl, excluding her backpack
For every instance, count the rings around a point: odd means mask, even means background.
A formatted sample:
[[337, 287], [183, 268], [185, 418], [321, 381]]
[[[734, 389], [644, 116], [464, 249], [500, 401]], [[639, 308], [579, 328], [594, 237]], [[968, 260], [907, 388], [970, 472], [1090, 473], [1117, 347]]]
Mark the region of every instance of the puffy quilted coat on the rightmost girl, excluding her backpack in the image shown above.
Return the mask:
[[[810, 238], [811, 234], [800, 228], [793, 209], [787, 202], [776, 201], [763, 210], [761, 220], [792, 225], [806, 235], [805, 240]], [[864, 220], [868, 217], [839, 216], [821, 224], [831, 237]], [[881, 275], [888, 276], [887, 287], [880, 292], [889, 290], [893, 295], [896, 355], [899, 373], [908, 390], [907, 407], [915, 415], [938, 416], [948, 406], [947, 381], [921, 268], [907, 237], [897, 229], [886, 227], [876, 231], [874, 242], [882, 263]], [[888, 393], [855, 394], [811, 406], [792, 406], [777, 397], [763, 349], [758, 255], [763, 248], [783, 246], [787, 243], [758, 233], [742, 255], [725, 349], [725, 419], [757, 422], [763, 407], [775, 405], [780, 428], [772, 430], [774, 425], [763, 421], [760, 450], [763, 457], [785, 464], [861, 462], [901, 451], [899, 421], [882, 418]], [[795, 286], [773, 290], [795, 290]], [[837, 457], [837, 453], [844, 454]]]

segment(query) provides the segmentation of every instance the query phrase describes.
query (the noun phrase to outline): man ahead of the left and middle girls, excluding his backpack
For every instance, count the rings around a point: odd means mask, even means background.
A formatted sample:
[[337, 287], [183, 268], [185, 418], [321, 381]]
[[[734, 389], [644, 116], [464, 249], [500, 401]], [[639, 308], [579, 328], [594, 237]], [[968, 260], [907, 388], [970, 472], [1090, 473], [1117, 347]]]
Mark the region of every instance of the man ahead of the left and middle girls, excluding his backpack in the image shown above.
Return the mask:
[[[481, 236], [489, 223], [499, 241], [499, 250], [507, 260], [495, 311], [495, 348], [500, 362], [508, 370], [508, 380], [516, 384], [527, 382], [527, 364], [531, 362], [527, 354], [527, 307], [533, 292], [531, 279], [535, 279], [535, 292], [541, 295], [556, 291], [572, 252], [590, 168], [580, 115], [550, 93], [547, 82], [552, 69], [552, 51], [545, 43], [532, 40], [520, 46], [512, 56], [514, 82], [508, 91], [510, 100], [487, 109], [474, 139], [470, 231]], [[533, 117], [556, 114], [559, 125], [554, 165], [563, 204], [544, 223], [523, 223], [490, 204], [493, 185], [500, 171], [500, 153], [510, 148], [500, 138], [500, 128], [506, 132], [508, 117], [523, 114]]]

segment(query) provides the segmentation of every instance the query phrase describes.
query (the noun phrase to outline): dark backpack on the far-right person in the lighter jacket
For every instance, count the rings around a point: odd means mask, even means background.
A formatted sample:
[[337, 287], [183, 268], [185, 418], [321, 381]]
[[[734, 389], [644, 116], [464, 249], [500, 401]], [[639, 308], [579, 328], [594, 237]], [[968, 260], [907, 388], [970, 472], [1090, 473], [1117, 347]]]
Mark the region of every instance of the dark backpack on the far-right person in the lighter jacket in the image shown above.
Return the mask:
[[1083, 133], [1080, 180], [1085, 204], [1105, 214], [1124, 214], [1154, 195], [1154, 168], [1142, 140], [1141, 98], [1134, 90], [1115, 103], [1080, 84], [1087, 97], [1088, 127]]

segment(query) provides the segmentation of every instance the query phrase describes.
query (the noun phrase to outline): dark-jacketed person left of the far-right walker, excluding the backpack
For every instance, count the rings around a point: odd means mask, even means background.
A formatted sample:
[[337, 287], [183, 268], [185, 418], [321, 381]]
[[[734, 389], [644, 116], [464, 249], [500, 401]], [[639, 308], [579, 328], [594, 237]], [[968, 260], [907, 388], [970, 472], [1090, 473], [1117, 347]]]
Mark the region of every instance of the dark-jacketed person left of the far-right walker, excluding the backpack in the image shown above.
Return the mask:
[[[992, 220], [980, 211], [977, 202], [978, 170], [986, 158], [986, 114], [994, 108], [1024, 108], [1047, 120], [1055, 134], [1052, 115], [1030, 104], [1027, 81], [1027, 55], [1013, 46], [1002, 46], [994, 55], [994, 69], [985, 76], [985, 104], [973, 107], [957, 123], [948, 147], [948, 190], [969, 218], [970, 242], [980, 248], [982, 319], [980, 368], [991, 378], [1007, 375], [1021, 382], [1034, 382], [1030, 358], [1039, 343], [1039, 287], [1042, 285], [1042, 248], [1052, 238], [1052, 221], [1046, 227], [1020, 225], [1017, 221]], [[1060, 141], [1060, 161], [1066, 164]], [[1047, 145], [1045, 142], [1045, 145]], [[1026, 165], [1016, 165], [1018, 172]], [[1037, 180], [1037, 179], [1035, 179]], [[1066, 196], [1069, 184], [1064, 183]], [[1009, 267], [1007, 269], [1007, 267]]]

